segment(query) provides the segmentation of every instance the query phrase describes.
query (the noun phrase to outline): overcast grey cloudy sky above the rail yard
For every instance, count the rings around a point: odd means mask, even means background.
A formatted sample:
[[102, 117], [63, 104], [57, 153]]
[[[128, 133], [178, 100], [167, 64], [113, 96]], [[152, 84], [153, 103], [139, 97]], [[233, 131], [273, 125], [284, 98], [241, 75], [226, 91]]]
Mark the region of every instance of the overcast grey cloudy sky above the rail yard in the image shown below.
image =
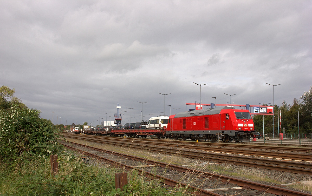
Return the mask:
[[207, 83], [203, 103], [242, 105], [273, 102], [266, 83], [281, 84], [277, 105], [312, 85], [310, 0], [3, 0], [0, 12], [0, 85], [54, 124], [113, 120], [117, 103], [126, 122], [128, 108], [131, 122], [142, 106], [147, 120], [182, 112], [200, 101], [193, 82]]

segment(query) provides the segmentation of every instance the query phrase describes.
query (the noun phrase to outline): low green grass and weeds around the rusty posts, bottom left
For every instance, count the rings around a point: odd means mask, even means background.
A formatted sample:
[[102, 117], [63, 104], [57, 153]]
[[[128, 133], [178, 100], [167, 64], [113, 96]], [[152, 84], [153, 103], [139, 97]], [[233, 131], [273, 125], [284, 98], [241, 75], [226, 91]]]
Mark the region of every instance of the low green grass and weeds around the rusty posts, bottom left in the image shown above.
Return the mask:
[[[50, 160], [41, 157], [28, 164], [21, 163], [15, 170], [0, 164], [0, 195], [110, 195], [110, 196], [179, 196], [183, 190], [166, 190], [158, 181], [146, 180], [136, 170], [128, 172], [128, 185], [115, 190], [118, 168], [85, 164], [81, 157], [63, 151], [59, 157], [59, 172], [53, 177]], [[185, 194], [187, 195], [187, 194]]]

